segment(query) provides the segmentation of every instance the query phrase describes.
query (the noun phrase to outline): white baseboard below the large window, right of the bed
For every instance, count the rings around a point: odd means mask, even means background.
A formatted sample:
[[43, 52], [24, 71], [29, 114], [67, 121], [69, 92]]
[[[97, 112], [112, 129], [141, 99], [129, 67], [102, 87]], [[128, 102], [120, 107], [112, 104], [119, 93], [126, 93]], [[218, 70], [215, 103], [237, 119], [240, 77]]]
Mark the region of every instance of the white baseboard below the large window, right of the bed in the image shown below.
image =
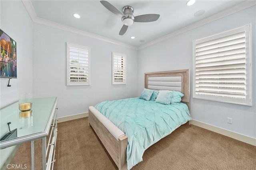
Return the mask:
[[212, 126], [210, 124], [199, 122], [197, 120], [191, 120], [190, 124], [193, 124], [195, 126], [199, 126], [201, 128], [210, 130], [212, 132], [216, 132], [218, 134], [222, 134], [224, 136], [228, 136], [230, 138], [233, 138], [233, 139], [236, 139], [236, 140], [240, 140], [240, 141], [245, 142], [247, 144], [251, 144], [251, 145], [256, 146], [256, 139], [255, 138], [252, 138], [252, 137], [249, 137], [249, 136], [245, 136], [245, 135], [242, 135], [242, 134], [238, 134], [238, 133], [226, 130], [226, 129], [218, 128], [216, 126]]

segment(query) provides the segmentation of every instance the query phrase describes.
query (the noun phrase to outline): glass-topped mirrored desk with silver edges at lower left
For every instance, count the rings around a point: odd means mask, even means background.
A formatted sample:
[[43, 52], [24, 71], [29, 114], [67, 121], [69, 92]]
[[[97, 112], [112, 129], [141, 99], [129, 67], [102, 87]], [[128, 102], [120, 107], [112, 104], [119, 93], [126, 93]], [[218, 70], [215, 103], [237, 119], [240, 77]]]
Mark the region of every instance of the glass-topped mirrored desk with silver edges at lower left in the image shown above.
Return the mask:
[[[0, 141], [0, 149], [31, 141], [31, 167], [34, 170], [34, 141], [42, 139], [42, 169], [48, 170], [51, 165], [53, 168], [58, 132], [57, 100], [56, 97], [33, 99], [32, 109], [27, 112], [20, 112], [18, 102], [2, 108], [0, 110], [1, 131], [4, 130], [6, 133], [15, 129], [17, 131], [14, 138]], [[8, 122], [11, 122], [10, 129], [8, 129]], [[48, 135], [49, 140], [46, 146]], [[1, 135], [1, 138], [3, 136]], [[47, 163], [46, 158], [48, 158]]]

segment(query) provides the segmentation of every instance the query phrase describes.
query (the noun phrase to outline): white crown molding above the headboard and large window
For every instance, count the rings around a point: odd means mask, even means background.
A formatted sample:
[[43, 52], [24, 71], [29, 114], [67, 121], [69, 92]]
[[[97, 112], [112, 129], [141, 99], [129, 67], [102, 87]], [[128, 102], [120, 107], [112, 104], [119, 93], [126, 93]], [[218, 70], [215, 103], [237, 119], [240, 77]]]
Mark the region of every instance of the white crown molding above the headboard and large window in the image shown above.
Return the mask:
[[213, 21], [218, 20], [218, 19], [220, 19], [220, 18], [224, 18], [225, 16], [228, 16], [228, 15], [230, 15], [230, 14], [234, 14], [234, 13], [236, 13], [236, 12], [239, 12], [239, 11], [241, 11], [241, 10], [244, 10], [244, 9], [246, 9], [246, 8], [249, 8], [249, 7], [255, 6], [255, 5], [256, 5], [256, 1], [255, 1], [255, 0], [246, 0], [245, 2], [242, 2], [241, 4], [238, 4], [238, 5], [236, 5], [236, 6], [233, 6], [233, 7], [231, 7], [231, 8], [228, 8], [228, 9], [222, 11], [222, 12], [219, 12], [219, 13], [217, 13], [217, 14], [214, 14], [214, 15], [212, 15], [212, 16], [209, 16], [209, 17], [207, 17], [207, 18], [204, 18], [203, 20], [200, 20], [200, 21], [198, 21], [198, 22], [195, 22], [195, 23], [193, 23], [193, 24], [190, 24], [190, 25], [188, 25], [188, 26], [186, 26], [186, 27], [184, 27], [184, 28], [181, 28], [181, 29], [179, 29], [179, 30], [176, 30], [176, 31], [170, 33], [170, 34], [167, 34], [167, 35], [165, 35], [165, 36], [162, 36], [162, 37], [160, 37], [160, 38], [157, 38], [156, 40], [153, 40], [153, 41], [151, 41], [151, 42], [148, 42], [147, 44], [144, 44], [144, 45], [142, 45], [142, 46], [139, 46], [139, 47], [138, 47], [138, 50], [141, 50], [141, 49], [146, 48], [146, 47], [148, 47], [148, 46], [152, 46], [153, 44], [157, 44], [157, 43], [159, 43], [159, 42], [161, 42], [161, 41], [164, 41], [164, 40], [166, 40], [166, 39], [172, 38], [172, 37], [174, 37], [174, 36], [176, 36], [176, 35], [178, 35], [178, 34], [182, 34], [182, 33], [184, 33], [184, 32], [187, 32], [187, 31], [189, 31], [189, 30], [192, 30], [192, 29], [197, 28], [197, 27], [199, 27], [199, 26], [202, 26], [202, 25], [204, 25], [204, 24], [208, 24], [208, 23], [210, 23], [210, 22], [213, 22]]

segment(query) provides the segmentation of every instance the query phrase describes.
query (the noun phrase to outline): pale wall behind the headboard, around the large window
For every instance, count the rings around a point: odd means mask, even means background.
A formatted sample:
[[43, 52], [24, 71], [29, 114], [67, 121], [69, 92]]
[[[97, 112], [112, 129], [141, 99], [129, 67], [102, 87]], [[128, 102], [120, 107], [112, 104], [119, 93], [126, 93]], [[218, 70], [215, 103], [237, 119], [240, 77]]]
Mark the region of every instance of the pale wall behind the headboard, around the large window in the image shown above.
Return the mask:
[[[255, 106], [255, 6], [174, 36], [139, 51], [138, 95], [144, 87], [144, 72], [190, 69], [190, 112], [193, 120], [256, 138]], [[242, 106], [192, 98], [192, 40], [252, 24], [252, 103]], [[227, 123], [232, 118], [233, 124]]]

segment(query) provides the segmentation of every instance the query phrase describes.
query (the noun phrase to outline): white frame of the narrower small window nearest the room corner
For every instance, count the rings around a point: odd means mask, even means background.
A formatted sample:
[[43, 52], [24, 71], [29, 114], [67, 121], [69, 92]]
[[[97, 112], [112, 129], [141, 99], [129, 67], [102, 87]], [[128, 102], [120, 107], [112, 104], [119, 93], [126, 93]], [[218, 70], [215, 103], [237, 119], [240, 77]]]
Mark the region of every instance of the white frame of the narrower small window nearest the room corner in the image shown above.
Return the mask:
[[[122, 58], [124, 58], [124, 79], [123, 81], [121, 82], [116, 82], [115, 79], [114, 79], [114, 72], [115, 72], [115, 68], [114, 68], [114, 62], [115, 62], [115, 56], [120, 56]], [[112, 84], [126, 84], [126, 74], [127, 74], [127, 67], [126, 67], [126, 63], [127, 63], [127, 57], [125, 54], [120, 54], [120, 53], [117, 53], [117, 52], [112, 52]]]

